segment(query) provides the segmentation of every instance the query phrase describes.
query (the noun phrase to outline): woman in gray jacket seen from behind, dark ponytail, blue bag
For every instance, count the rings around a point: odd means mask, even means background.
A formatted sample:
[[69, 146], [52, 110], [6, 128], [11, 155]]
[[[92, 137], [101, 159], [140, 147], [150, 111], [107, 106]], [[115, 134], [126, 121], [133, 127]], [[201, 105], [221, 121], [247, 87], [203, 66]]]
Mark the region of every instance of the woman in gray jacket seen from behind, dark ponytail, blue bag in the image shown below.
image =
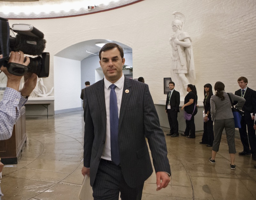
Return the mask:
[[[215, 156], [219, 151], [221, 134], [225, 128], [228, 152], [231, 160], [230, 169], [235, 169], [235, 121], [231, 109], [232, 105], [228, 94], [224, 92], [224, 88], [225, 85], [222, 82], [217, 81], [214, 86], [216, 93], [210, 100], [212, 121], [214, 121], [214, 141], [212, 145], [212, 157], [209, 158], [209, 161], [212, 164], [215, 164]], [[232, 93], [229, 93], [229, 95], [232, 102], [238, 101], [236, 108], [241, 109], [245, 103], [245, 99]]]

